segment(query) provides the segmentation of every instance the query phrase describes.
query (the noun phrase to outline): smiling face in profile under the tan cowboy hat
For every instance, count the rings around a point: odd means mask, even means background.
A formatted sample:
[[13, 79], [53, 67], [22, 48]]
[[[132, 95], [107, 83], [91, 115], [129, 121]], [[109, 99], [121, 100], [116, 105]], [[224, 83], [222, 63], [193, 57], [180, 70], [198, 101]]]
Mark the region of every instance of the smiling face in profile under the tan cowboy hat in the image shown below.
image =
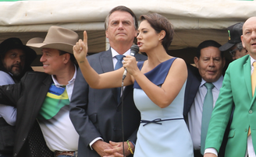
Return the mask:
[[43, 63], [45, 73], [49, 75], [58, 75], [62, 73], [66, 60], [65, 54], [59, 55], [59, 50], [43, 48], [40, 61]]

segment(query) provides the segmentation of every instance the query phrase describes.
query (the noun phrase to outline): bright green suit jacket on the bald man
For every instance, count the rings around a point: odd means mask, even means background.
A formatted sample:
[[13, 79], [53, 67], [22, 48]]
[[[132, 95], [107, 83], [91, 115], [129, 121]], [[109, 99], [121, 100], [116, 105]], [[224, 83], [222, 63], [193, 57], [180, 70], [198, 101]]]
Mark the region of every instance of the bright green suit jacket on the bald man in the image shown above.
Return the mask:
[[251, 58], [246, 55], [229, 64], [219, 98], [212, 112], [205, 148], [219, 152], [223, 134], [235, 106], [230, 126], [225, 156], [244, 157], [247, 150], [247, 133], [251, 127], [254, 150], [256, 150], [256, 94], [251, 92]]

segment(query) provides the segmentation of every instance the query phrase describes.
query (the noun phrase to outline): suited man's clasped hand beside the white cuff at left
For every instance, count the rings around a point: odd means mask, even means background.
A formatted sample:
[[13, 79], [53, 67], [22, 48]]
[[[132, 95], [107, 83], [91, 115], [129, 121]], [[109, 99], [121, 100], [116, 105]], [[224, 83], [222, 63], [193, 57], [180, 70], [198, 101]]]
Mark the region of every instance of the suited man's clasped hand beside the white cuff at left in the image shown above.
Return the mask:
[[101, 157], [111, 155], [111, 153], [104, 151], [105, 149], [112, 149], [112, 145], [105, 141], [95, 141], [94, 144], [91, 145], [91, 147], [94, 148], [94, 150], [98, 153], [98, 155], [101, 155]]

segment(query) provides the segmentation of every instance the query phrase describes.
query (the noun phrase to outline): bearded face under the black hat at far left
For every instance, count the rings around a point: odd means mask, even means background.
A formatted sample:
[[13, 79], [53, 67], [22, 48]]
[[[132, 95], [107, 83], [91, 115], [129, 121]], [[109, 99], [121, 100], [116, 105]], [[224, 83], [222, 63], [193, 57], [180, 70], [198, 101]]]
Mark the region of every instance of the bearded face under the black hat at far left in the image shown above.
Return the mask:
[[8, 72], [14, 76], [19, 76], [25, 65], [25, 54], [20, 49], [9, 50], [5, 53], [2, 63]]

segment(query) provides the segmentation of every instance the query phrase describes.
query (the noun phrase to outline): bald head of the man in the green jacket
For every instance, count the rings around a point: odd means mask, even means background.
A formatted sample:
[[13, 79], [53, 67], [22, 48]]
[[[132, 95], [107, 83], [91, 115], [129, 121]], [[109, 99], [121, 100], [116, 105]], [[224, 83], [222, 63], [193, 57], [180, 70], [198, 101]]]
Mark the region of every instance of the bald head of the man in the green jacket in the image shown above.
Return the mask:
[[256, 16], [246, 20], [241, 36], [243, 47], [256, 60]]

